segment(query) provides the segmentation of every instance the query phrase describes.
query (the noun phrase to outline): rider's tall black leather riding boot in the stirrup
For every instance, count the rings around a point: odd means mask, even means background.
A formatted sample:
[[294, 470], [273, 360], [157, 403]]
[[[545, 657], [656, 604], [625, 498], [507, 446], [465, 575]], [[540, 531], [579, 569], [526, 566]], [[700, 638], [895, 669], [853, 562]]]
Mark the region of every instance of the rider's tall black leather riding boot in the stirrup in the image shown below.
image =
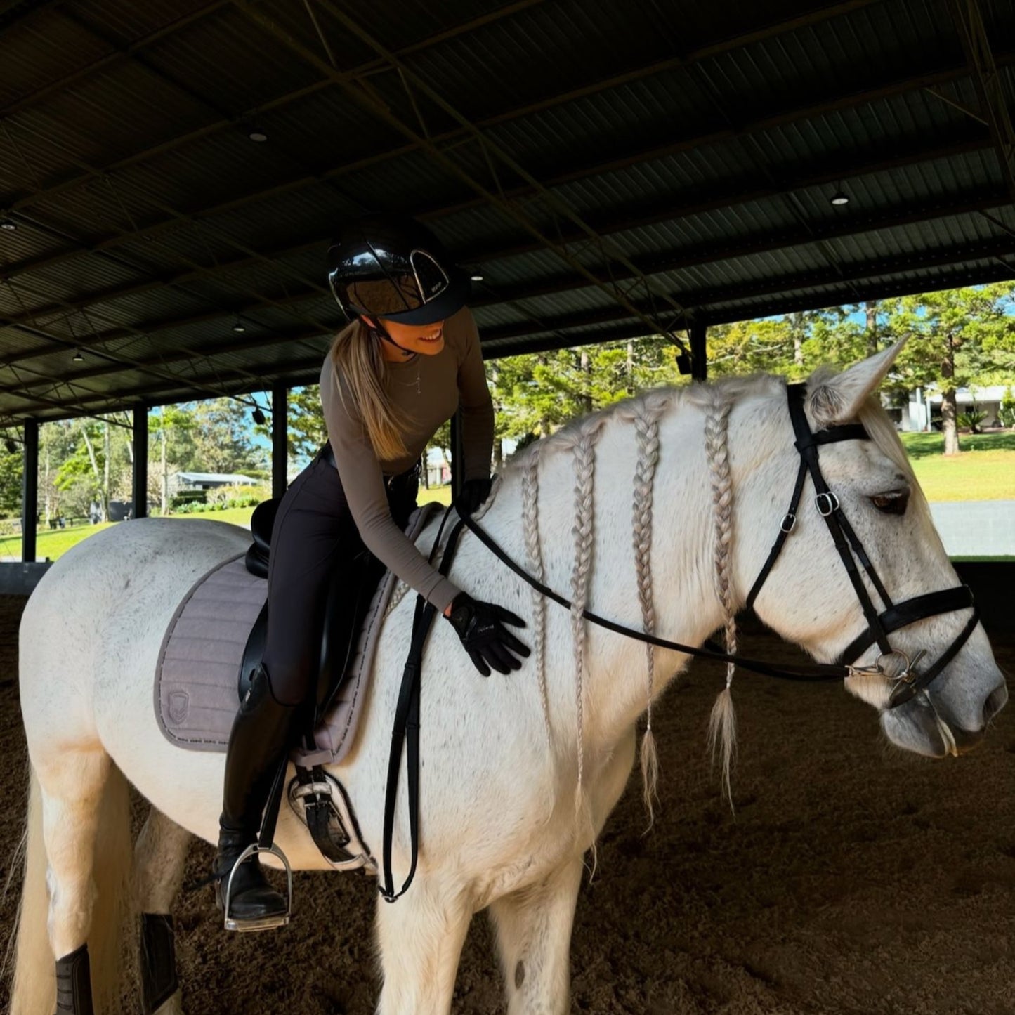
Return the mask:
[[297, 705], [275, 700], [268, 671], [258, 666], [229, 734], [214, 866], [219, 879], [215, 882], [215, 902], [222, 910], [226, 908], [229, 874], [235, 868], [228, 916], [236, 930], [280, 926], [273, 921], [284, 917], [288, 907], [285, 898], [268, 883], [256, 854], [239, 867], [236, 861], [247, 847], [257, 841], [264, 807], [289, 746], [297, 712]]

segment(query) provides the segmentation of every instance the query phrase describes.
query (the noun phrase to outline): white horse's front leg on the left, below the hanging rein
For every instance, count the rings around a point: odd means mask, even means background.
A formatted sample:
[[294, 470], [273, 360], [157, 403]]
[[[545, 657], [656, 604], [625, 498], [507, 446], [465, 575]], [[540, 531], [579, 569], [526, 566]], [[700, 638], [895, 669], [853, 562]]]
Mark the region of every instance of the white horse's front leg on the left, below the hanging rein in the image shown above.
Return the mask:
[[419, 878], [398, 901], [378, 900], [378, 1015], [448, 1015], [472, 912], [463, 886]]

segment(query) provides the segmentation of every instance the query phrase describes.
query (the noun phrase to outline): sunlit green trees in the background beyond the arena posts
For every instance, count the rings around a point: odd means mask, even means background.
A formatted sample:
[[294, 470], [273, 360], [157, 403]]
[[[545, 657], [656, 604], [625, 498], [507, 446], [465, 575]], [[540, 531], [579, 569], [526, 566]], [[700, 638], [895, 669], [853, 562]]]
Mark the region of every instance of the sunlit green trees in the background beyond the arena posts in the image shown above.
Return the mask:
[[[717, 325], [708, 330], [710, 377], [756, 371], [802, 380], [815, 367], [839, 368], [909, 336], [885, 389], [900, 401], [916, 388], [943, 396], [946, 450], [958, 449], [958, 388], [1010, 385], [1015, 376], [1015, 283], [972, 286], [881, 302]], [[590, 336], [592, 337], [592, 336]], [[524, 446], [569, 419], [664, 384], [686, 384], [676, 348], [660, 336], [559, 349], [486, 364], [496, 418], [495, 464], [502, 442]], [[1009, 394], [1001, 417], [1015, 425]], [[123, 425], [126, 424], [126, 425]], [[131, 498], [130, 417], [76, 419], [40, 427], [39, 491], [44, 519], [81, 517], [92, 503]], [[149, 415], [149, 492], [176, 472], [270, 470], [270, 426], [257, 425], [249, 406], [212, 399], [155, 409]], [[327, 439], [317, 385], [288, 396], [288, 460], [297, 466]], [[15, 450], [6, 441], [16, 442]], [[0, 433], [0, 515], [20, 512], [20, 431]], [[431, 447], [451, 454], [450, 427]]]

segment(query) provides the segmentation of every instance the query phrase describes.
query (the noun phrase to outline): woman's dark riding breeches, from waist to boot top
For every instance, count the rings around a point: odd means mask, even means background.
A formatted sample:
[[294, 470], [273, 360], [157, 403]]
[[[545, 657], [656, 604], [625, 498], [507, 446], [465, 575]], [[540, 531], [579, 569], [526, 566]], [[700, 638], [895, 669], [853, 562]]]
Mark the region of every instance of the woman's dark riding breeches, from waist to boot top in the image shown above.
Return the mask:
[[[415, 504], [414, 474], [396, 477], [392, 487], [392, 515], [402, 525]], [[328, 584], [361, 546], [338, 470], [319, 453], [285, 491], [271, 531], [262, 659], [280, 703], [304, 701], [316, 683]]]

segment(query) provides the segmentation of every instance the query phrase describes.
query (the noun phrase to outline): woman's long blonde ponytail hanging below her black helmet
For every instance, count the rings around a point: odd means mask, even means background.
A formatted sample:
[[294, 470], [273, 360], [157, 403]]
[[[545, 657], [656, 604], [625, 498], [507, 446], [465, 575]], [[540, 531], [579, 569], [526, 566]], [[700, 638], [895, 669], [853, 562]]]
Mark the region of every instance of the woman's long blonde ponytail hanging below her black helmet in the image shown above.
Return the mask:
[[[346, 411], [362, 420], [378, 458], [382, 462], [405, 458], [409, 452], [402, 434], [407, 426], [385, 389], [387, 366], [380, 340], [356, 319], [335, 336], [331, 364], [338, 397]], [[346, 405], [346, 394], [351, 406]]]

